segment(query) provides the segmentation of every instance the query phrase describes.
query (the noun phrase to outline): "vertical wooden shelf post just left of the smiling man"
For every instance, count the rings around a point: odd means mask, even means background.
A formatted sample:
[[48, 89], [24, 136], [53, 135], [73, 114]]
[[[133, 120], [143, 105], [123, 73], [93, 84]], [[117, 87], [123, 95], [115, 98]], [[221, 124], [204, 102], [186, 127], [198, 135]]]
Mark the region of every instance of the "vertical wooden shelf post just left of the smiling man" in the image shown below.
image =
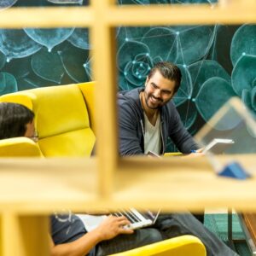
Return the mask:
[[117, 75], [114, 28], [108, 26], [107, 3], [94, 0], [95, 20], [91, 26], [93, 77], [96, 79], [96, 151], [98, 157], [98, 189], [108, 198], [113, 189], [113, 175], [118, 165]]

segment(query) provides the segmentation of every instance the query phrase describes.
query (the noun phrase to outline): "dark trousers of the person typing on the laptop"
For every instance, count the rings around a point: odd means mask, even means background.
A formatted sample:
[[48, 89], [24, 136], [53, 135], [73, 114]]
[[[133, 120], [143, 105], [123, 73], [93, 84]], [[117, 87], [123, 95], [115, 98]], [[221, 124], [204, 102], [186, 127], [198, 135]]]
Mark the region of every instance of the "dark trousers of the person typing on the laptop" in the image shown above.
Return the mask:
[[96, 247], [96, 256], [119, 253], [183, 235], [198, 237], [207, 248], [207, 256], [238, 255], [188, 212], [186, 214], [161, 214], [150, 228], [135, 230], [131, 235], [119, 235], [112, 240], [102, 241]]

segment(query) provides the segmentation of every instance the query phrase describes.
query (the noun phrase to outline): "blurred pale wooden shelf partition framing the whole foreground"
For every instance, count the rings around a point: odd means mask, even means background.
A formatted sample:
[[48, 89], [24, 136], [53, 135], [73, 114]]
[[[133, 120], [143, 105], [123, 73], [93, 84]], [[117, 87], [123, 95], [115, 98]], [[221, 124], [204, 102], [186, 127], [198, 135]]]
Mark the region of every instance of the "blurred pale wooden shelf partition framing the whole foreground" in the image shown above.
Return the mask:
[[[1, 28], [90, 27], [97, 81], [97, 156], [78, 160], [0, 160], [0, 255], [47, 255], [47, 215], [71, 209], [162, 207], [256, 211], [256, 179], [218, 177], [207, 158], [119, 159], [116, 109], [116, 26], [256, 23], [253, 0], [213, 5], [122, 6], [91, 0], [89, 7], [8, 9]], [[226, 156], [227, 158], [228, 156]], [[226, 160], [226, 158], [224, 160]], [[237, 156], [250, 169], [255, 155]]]

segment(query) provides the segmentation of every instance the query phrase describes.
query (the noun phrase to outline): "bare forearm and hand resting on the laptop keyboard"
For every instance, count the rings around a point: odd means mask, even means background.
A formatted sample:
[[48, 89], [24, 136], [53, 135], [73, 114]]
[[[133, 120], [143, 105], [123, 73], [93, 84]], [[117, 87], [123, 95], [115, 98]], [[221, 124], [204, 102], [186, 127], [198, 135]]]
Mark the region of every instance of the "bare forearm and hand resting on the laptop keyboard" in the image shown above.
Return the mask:
[[76, 241], [55, 245], [50, 240], [51, 256], [84, 256], [103, 240], [112, 239], [119, 234], [132, 234], [133, 230], [124, 229], [130, 222], [125, 217], [108, 216], [95, 230], [91, 230]]

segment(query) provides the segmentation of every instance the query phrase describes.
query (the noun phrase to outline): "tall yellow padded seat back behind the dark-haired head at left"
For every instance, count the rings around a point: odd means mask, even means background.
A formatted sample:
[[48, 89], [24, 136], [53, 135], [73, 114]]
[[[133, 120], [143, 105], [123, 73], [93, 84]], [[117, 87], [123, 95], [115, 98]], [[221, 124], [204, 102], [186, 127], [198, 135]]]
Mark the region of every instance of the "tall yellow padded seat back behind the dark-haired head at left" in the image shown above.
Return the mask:
[[32, 109], [44, 156], [90, 156], [96, 140], [90, 128], [94, 85], [90, 82], [23, 90], [1, 96], [0, 102], [16, 102]]

